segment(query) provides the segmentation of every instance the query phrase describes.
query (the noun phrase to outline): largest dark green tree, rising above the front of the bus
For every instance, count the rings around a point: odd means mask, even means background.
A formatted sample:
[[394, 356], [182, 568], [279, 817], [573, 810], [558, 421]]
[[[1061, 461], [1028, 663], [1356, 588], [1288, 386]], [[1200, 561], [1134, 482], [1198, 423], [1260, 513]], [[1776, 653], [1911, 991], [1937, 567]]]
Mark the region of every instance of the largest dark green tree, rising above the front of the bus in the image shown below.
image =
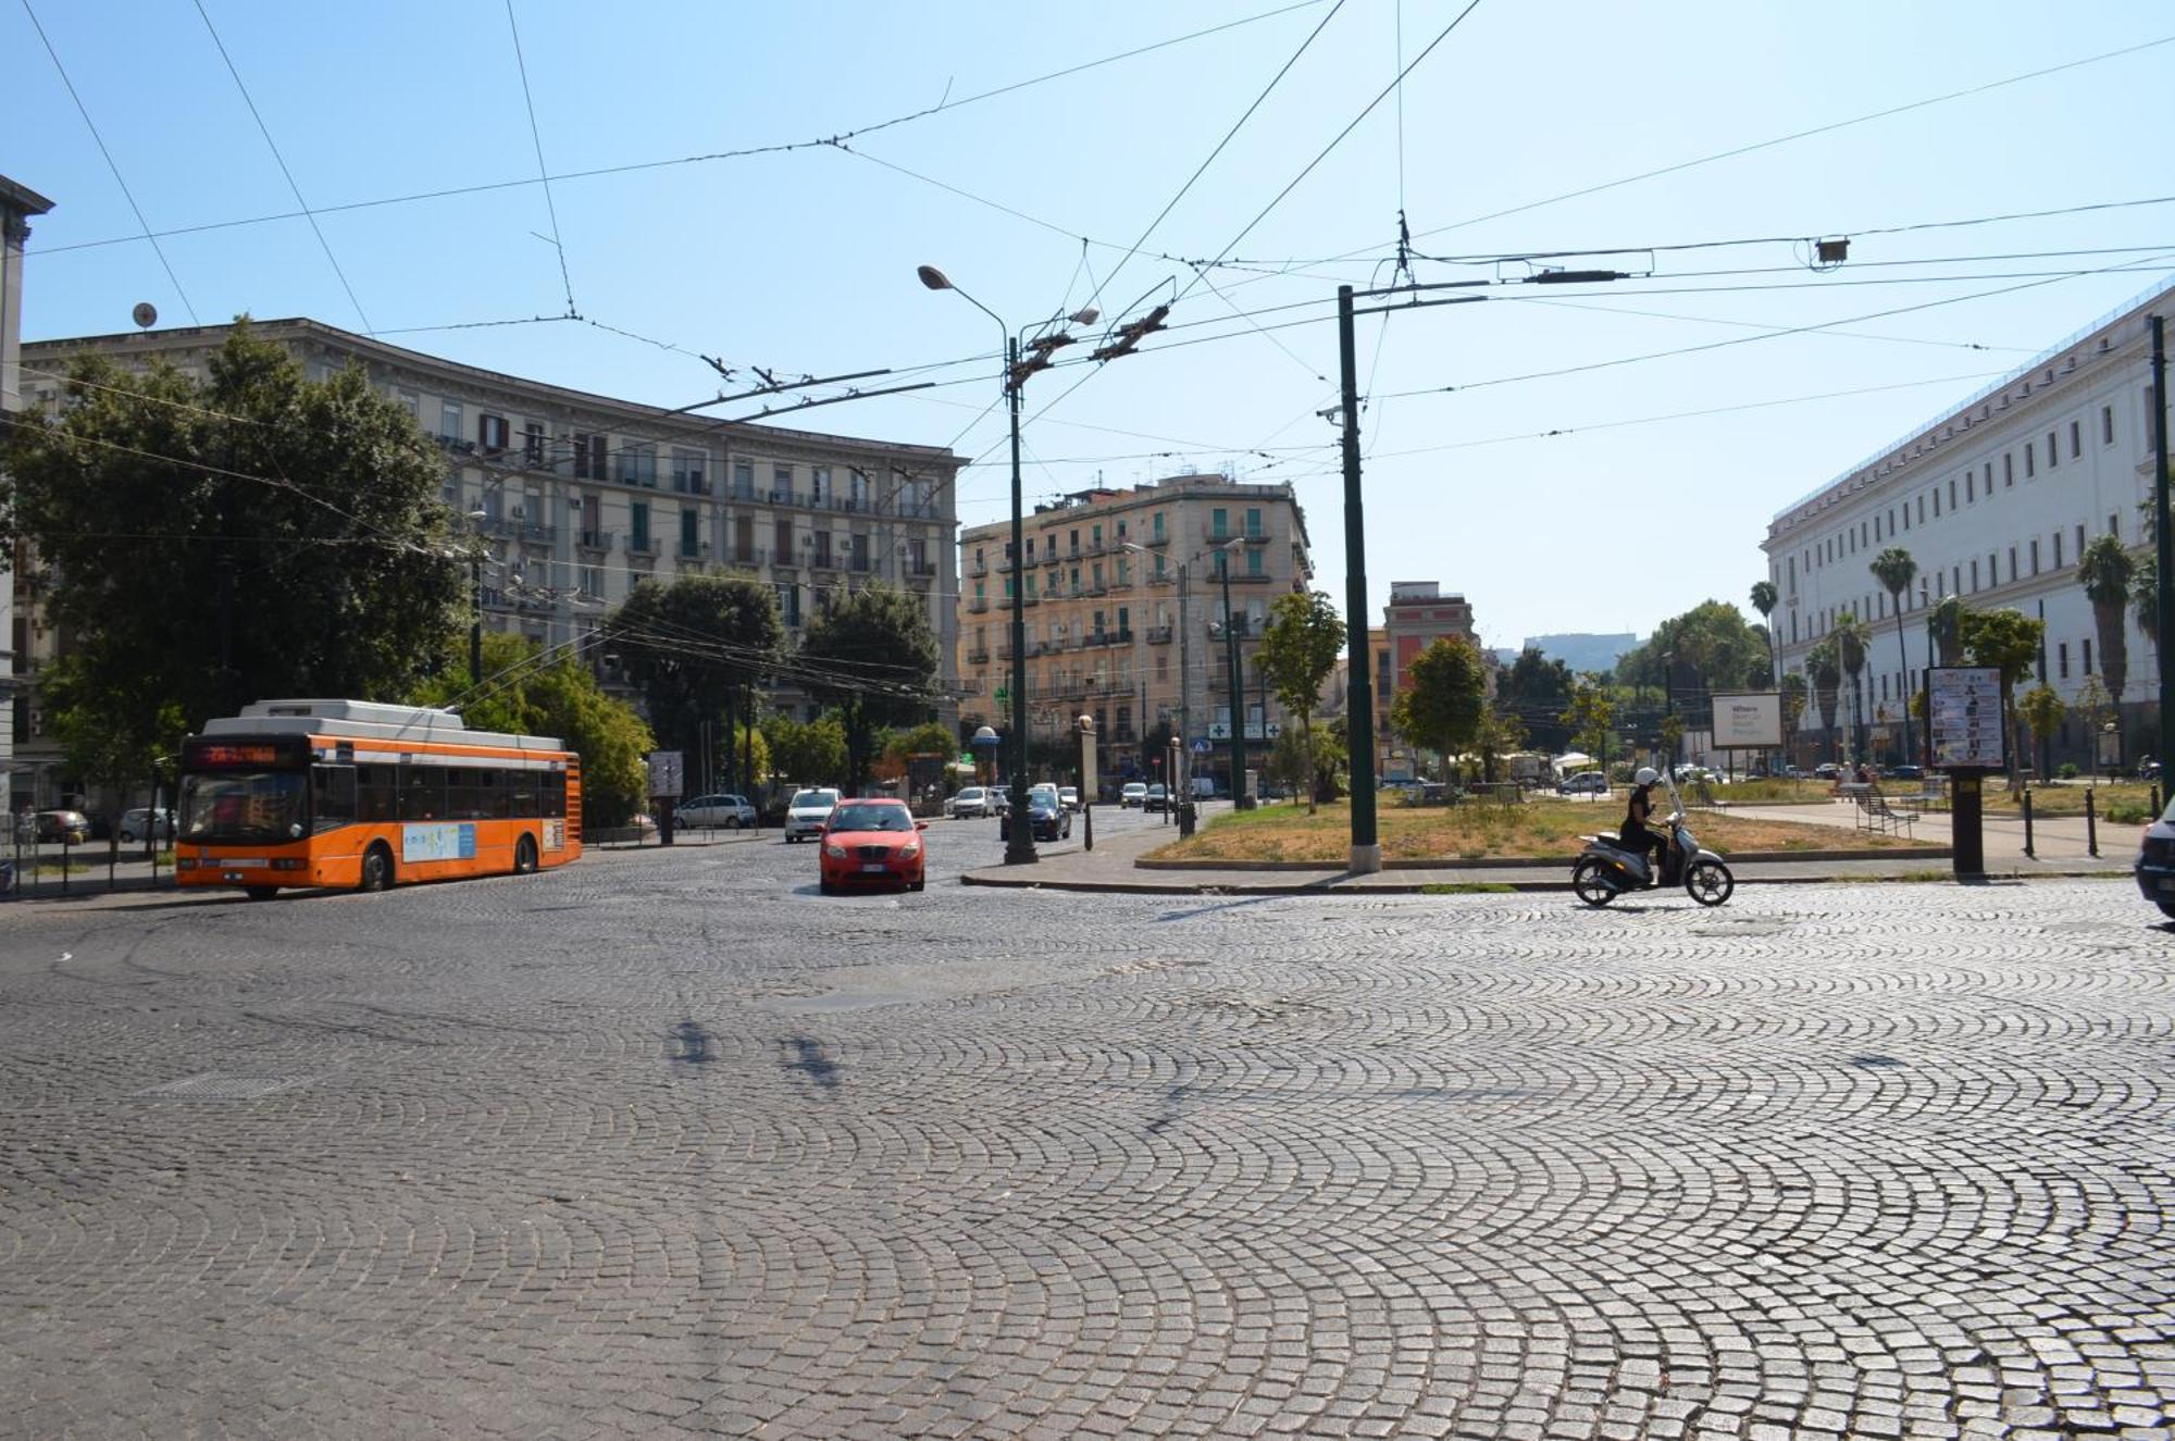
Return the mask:
[[400, 697], [468, 618], [444, 451], [361, 368], [309, 381], [248, 324], [204, 381], [76, 361], [0, 472], [0, 540], [48, 568], [78, 655], [76, 723], [137, 738], [130, 764], [167, 705], [198, 729], [263, 697]]

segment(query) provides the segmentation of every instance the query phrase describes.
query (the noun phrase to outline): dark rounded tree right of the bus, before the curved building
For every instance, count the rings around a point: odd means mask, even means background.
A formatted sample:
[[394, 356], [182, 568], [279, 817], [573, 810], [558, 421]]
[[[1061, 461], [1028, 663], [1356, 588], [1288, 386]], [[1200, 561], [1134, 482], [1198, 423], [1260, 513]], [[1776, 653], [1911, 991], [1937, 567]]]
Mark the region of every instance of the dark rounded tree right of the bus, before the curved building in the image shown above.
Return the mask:
[[[687, 755], [689, 771], [705, 736], [722, 751], [724, 740], [739, 734], [757, 683], [785, 644], [776, 592], [726, 575], [644, 579], [607, 629], [626, 679], [642, 692], [657, 742]], [[713, 753], [709, 760], [731, 775], [737, 758]]]

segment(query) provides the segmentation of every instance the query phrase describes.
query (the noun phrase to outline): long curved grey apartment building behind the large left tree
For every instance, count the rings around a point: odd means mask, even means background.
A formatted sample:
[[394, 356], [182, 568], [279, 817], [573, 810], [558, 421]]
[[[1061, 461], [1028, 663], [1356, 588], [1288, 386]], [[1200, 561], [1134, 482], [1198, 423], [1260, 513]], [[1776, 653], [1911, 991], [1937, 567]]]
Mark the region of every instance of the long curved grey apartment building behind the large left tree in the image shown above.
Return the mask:
[[[444, 498], [485, 549], [485, 625], [542, 644], [594, 638], [644, 579], [744, 575], [776, 588], [790, 638], [820, 596], [887, 581], [922, 596], [940, 655], [957, 640], [953, 477], [961, 457], [894, 444], [720, 424], [461, 366], [315, 320], [252, 322], [311, 379], [361, 364], [446, 451]], [[124, 366], [165, 359], [198, 377], [233, 327], [48, 340], [22, 348], [24, 401], [59, 405], [67, 361], [98, 353]], [[17, 572], [17, 592], [24, 586]], [[17, 594], [17, 603], [22, 596]], [[30, 668], [59, 638], [33, 625]], [[589, 651], [585, 651], [589, 653]], [[596, 655], [607, 683], [613, 670]], [[940, 677], [950, 690], [955, 677]], [[796, 714], [813, 701], [790, 688]], [[35, 749], [35, 705], [20, 716]], [[957, 705], [940, 714], [950, 723]]]

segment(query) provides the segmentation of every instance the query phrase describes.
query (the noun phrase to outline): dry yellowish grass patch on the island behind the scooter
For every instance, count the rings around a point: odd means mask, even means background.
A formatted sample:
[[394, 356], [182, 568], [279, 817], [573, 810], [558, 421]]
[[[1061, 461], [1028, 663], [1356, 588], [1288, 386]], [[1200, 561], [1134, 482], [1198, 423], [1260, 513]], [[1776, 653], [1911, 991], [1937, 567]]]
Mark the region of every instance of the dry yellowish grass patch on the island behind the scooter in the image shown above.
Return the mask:
[[[1623, 799], [1542, 799], [1522, 805], [1383, 805], [1377, 834], [1385, 860], [1533, 860], [1577, 855], [1586, 836], [1614, 832]], [[1692, 812], [1692, 834], [1723, 851], [1866, 851], [1912, 845], [1899, 836], [1866, 834], [1805, 821], [1766, 821], [1727, 812]], [[1157, 860], [1288, 860], [1340, 866], [1351, 855], [1351, 803], [1322, 805], [1316, 814], [1275, 810], [1218, 816], [1190, 840], [1161, 847]]]

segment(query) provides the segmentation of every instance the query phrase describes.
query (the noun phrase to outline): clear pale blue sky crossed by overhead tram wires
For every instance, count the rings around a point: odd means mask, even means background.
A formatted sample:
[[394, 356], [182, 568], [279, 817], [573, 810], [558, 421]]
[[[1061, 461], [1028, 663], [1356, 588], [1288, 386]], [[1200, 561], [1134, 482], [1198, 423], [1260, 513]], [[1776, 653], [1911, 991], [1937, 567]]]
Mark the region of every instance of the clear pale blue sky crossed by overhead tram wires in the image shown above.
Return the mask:
[[[505, 185], [324, 213], [331, 261], [298, 218], [167, 235], [170, 279], [30, 15], [152, 231], [298, 209], [211, 28], [194, 0], [9, 0], [0, 54], [15, 122], [0, 174], [57, 200], [33, 235], [26, 337], [126, 329], [137, 300], [163, 324], [187, 324], [191, 307], [204, 322], [313, 316], [661, 405], [716, 394], [698, 355], [818, 377], [966, 361], [920, 372], [942, 387], [816, 409], [803, 424], [979, 457], [959, 494], [974, 525], [1007, 509], [998, 331], [922, 290], [916, 263], [942, 266], [1016, 327], [1085, 303], [1090, 274], [1111, 313], [1157, 287], [1183, 292], [1172, 331], [1142, 355], [1035, 377], [1027, 494], [1181, 464], [1290, 479], [1316, 586], [1340, 605], [1335, 433], [1316, 416], [1333, 398], [1335, 283], [1396, 279], [1401, 207], [1429, 257], [1612, 250], [1562, 263], [1655, 279], [1496, 290], [1359, 327], [1370, 612], [1392, 579], [1438, 579], [1472, 599], [1490, 644], [1644, 633], [1707, 596], [1742, 605], [1779, 507], [2175, 270], [2175, 205], [1868, 233], [2175, 192], [2175, 44], [2149, 46], [2175, 37], [2175, 9], [2145, 0], [1481, 0], [1244, 237], [1464, 0], [1283, 13], [1275, 0], [515, 0], [537, 139], [505, 4], [202, 9], [311, 207]], [[977, 100], [1225, 22], [1246, 24]], [[2149, 48], [1994, 85], [2136, 46]], [[574, 174], [837, 137], [940, 100], [948, 109], [848, 139], [850, 152]], [[535, 183], [539, 144], [566, 176], [550, 185], [563, 276]], [[1853, 235], [1851, 261], [1807, 270], [1799, 242], [1814, 235]], [[89, 244], [113, 239], [124, 244]], [[1731, 239], [1762, 244], [1646, 253]], [[1196, 281], [1161, 255], [1251, 268]], [[1433, 283], [1531, 268], [1414, 270]], [[2086, 270], [2101, 274], [2053, 279]], [[646, 340], [566, 320], [415, 329], [557, 316], [568, 287], [581, 316]], [[1686, 294], [1699, 290], [1710, 294]], [[1847, 333], [1518, 379], [1931, 300], [1951, 303]]]

